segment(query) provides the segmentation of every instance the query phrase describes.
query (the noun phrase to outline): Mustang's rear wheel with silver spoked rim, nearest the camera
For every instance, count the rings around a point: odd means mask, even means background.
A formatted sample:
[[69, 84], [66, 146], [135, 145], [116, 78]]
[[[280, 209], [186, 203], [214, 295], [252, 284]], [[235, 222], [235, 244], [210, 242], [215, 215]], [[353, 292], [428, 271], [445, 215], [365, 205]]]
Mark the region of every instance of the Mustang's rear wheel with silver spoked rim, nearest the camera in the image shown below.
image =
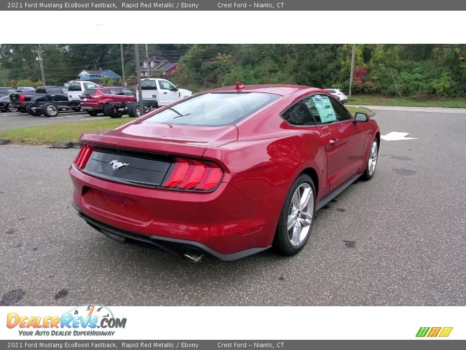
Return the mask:
[[283, 255], [300, 252], [311, 234], [315, 213], [314, 182], [309, 175], [301, 174], [285, 198], [273, 240], [275, 249]]

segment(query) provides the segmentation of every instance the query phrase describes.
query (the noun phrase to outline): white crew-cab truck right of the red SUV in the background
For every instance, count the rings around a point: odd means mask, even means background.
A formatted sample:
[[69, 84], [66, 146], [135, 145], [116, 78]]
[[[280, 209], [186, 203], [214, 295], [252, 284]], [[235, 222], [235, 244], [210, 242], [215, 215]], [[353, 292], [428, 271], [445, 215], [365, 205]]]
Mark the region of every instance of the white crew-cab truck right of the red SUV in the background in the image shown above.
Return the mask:
[[[177, 88], [168, 80], [160, 78], [141, 79], [141, 90], [142, 100], [152, 102], [157, 106], [169, 105], [193, 94], [189, 90]], [[138, 93], [136, 93], [136, 98], [139, 102]]]

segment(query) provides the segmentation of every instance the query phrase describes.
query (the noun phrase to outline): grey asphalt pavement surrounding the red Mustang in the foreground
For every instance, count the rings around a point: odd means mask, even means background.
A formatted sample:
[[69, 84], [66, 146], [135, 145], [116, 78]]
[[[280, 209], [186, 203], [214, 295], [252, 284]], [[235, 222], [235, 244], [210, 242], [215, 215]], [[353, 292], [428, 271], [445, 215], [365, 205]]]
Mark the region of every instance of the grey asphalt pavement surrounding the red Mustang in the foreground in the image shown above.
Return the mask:
[[77, 150], [0, 146], [1, 305], [465, 305], [466, 116], [377, 110], [377, 174], [317, 212], [301, 253], [192, 264], [70, 206]]

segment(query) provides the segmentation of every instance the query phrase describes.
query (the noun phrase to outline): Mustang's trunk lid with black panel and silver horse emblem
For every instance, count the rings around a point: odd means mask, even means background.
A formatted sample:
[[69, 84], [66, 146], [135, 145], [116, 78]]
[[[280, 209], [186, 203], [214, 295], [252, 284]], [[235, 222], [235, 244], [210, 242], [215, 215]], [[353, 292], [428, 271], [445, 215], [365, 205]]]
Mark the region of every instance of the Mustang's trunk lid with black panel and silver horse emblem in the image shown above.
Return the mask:
[[115, 130], [84, 134], [81, 142], [93, 146], [82, 171], [129, 185], [160, 186], [175, 157], [201, 158], [210, 147], [238, 139], [235, 125], [199, 127], [130, 123]]

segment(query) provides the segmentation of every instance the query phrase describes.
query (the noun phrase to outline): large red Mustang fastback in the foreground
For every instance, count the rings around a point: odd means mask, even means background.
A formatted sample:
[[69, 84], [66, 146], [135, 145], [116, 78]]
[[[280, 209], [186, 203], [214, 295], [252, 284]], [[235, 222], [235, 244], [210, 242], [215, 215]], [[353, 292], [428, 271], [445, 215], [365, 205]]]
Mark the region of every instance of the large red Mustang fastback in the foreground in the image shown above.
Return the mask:
[[315, 211], [374, 175], [380, 131], [321, 89], [238, 83], [80, 142], [69, 171], [89, 225], [193, 262], [233, 261], [298, 253]]

